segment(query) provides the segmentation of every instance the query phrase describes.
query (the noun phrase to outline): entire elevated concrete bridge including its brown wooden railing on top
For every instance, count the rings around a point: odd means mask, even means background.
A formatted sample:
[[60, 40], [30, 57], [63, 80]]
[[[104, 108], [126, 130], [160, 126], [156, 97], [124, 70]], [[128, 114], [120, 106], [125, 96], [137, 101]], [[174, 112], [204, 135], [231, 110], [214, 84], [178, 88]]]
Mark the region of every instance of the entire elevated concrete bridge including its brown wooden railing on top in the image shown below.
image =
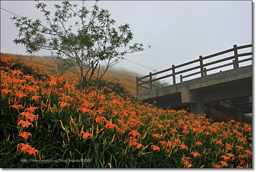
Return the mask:
[[[164, 75], [157, 77], [159, 74]], [[176, 79], [178, 75], [180, 82]], [[157, 81], [165, 78], [172, 78], [172, 84], [159, 86], [161, 82]], [[188, 108], [190, 112], [212, 116], [211, 107], [220, 104], [222, 110], [226, 107], [225, 110], [232, 111], [231, 116], [241, 121], [241, 113], [252, 111], [252, 44], [234, 45], [222, 52], [136, 77], [136, 89], [136, 95], [144, 102], [156, 101], [162, 108]], [[231, 108], [230, 104], [243, 104], [247, 108]]]

